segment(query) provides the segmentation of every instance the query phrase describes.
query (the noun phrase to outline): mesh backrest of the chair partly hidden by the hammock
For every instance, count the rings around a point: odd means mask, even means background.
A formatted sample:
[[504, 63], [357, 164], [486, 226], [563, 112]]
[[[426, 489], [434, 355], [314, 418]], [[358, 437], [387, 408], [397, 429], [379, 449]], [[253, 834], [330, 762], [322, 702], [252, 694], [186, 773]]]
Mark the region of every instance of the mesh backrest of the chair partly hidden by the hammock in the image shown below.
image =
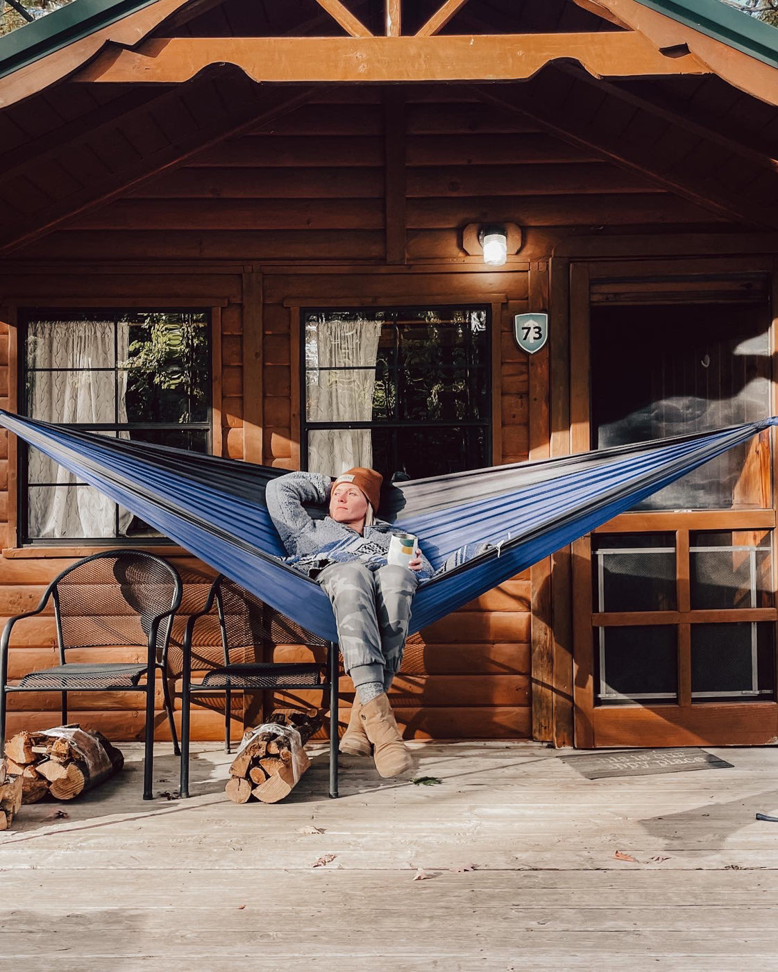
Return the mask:
[[[235, 648], [255, 648], [271, 644], [304, 644], [323, 647], [328, 642], [307, 631], [285, 614], [223, 575], [214, 582], [219, 612], [224, 662]], [[232, 661], [235, 659], [232, 658]]]

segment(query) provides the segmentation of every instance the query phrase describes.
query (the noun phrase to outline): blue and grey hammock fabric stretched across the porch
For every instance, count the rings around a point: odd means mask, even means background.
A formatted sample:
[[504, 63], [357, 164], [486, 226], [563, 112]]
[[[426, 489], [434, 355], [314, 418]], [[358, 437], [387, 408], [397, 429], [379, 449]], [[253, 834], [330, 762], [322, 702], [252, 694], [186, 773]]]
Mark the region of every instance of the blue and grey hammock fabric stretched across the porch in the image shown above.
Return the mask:
[[[262, 601], [329, 641], [321, 587], [280, 558], [264, 503], [282, 469], [107, 438], [0, 409], [0, 425]], [[435, 568], [465, 543], [495, 548], [423, 583], [416, 632], [720, 456], [778, 418], [540, 462], [398, 483], [379, 515], [420, 538]]]

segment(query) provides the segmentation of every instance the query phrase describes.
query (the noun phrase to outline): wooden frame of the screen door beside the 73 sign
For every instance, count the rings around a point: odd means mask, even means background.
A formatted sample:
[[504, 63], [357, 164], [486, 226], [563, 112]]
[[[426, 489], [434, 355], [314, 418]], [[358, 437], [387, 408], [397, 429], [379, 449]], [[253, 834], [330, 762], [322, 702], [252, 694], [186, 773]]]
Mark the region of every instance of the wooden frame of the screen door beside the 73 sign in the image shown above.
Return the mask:
[[[688, 274], [714, 275], [722, 278], [744, 273], [761, 273], [770, 278], [772, 308], [778, 298], [776, 267], [778, 260], [772, 257], [736, 258], [678, 258], [643, 260], [573, 260], [569, 272], [569, 328], [570, 328], [570, 446], [573, 452], [584, 451], [590, 447], [590, 319], [592, 283], [597, 281], [632, 281], [639, 283], [648, 278], [685, 276]], [[647, 301], [645, 301], [647, 302]], [[774, 311], [773, 311], [774, 313]], [[776, 329], [775, 319], [770, 328], [770, 348], [773, 360], [771, 404], [773, 414], [778, 404], [775, 367]], [[678, 513], [625, 513], [599, 528], [599, 532], [626, 532], [647, 525], [654, 529], [679, 531], [688, 538], [688, 529], [693, 526], [717, 529], [724, 526], [731, 529], [738, 518], [746, 519], [749, 524], [757, 520], [765, 528], [775, 527], [775, 508], [778, 499], [778, 457], [776, 456], [776, 435], [772, 431], [772, 480], [773, 508], [771, 510], [748, 512], [738, 517], [737, 512], [722, 514], [711, 510], [692, 514]], [[637, 519], [639, 517], [639, 520]], [[726, 518], [726, 520], [725, 520]], [[734, 522], [733, 522], [734, 521]], [[680, 538], [679, 539], [683, 539]], [[775, 543], [773, 543], [773, 586], [776, 573]], [[650, 706], [629, 708], [629, 725], [620, 719], [622, 707], [599, 707], [593, 705], [593, 649], [592, 649], [592, 583], [591, 583], [591, 538], [581, 538], [572, 545], [572, 591], [571, 601], [573, 629], [573, 699], [574, 699], [574, 740], [575, 746], [591, 748], [597, 746], [668, 746], [668, 745], [727, 745], [727, 725], [733, 719], [740, 722], [737, 743], [740, 745], [761, 745], [774, 742], [778, 735], [778, 703], [698, 703], [686, 714], [683, 726], [669, 722], [671, 708]], [[679, 581], [679, 587], [682, 586]], [[688, 592], [687, 592], [688, 593]], [[778, 622], [776, 634], [778, 635]], [[778, 644], [778, 637], [776, 638]], [[687, 673], [688, 675], [688, 673]], [[683, 673], [679, 673], [682, 677]], [[683, 678], [682, 678], [683, 680]], [[687, 678], [688, 680], [688, 678]], [[689, 686], [687, 685], [687, 688]], [[689, 694], [689, 693], [687, 693]], [[717, 719], [717, 715], [727, 715]], [[596, 739], [595, 739], [596, 720]], [[718, 726], [713, 725], [718, 721]], [[669, 725], [669, 729], [668, 729]]]

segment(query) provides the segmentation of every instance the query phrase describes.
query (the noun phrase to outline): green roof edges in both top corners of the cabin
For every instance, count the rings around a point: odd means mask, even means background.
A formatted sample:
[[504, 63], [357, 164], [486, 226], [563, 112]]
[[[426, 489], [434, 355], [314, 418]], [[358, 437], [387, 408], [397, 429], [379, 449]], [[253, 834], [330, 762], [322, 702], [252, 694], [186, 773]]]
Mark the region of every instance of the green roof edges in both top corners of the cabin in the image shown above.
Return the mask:
[[[73, 0], [47, 17], [0, 37], [0, 78], [82, 40], [160, 0]], [[778, 67], [776, 28], [722, 0], [636, 0], [728, 47]]]

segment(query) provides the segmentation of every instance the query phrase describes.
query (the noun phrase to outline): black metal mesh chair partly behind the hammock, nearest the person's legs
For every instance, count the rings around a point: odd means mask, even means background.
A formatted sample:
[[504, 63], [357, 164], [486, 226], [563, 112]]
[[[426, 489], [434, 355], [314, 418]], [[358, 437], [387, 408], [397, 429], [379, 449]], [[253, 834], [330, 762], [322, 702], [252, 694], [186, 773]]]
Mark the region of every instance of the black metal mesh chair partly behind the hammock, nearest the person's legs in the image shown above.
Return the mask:
[[[219, 623], [223, 665], [192, 682], [194, 628], [206, 615]], [[277, 644], [302, 644], [326, 649], [324, 662], [273, 662], [267, 657]], [[189, 714], [192, 695], [223, 692], [224, 748], [230, 751], [231, 694], [277, 689], [321, 689], [322, 708], [329, 690], [329, 795], [338, 795], [338, 647], [306, 631], [234, 581], [220, 574], [205, 607], [189, 616], [184, 636], [181, 722], [181, 795], [189, 795]]]

